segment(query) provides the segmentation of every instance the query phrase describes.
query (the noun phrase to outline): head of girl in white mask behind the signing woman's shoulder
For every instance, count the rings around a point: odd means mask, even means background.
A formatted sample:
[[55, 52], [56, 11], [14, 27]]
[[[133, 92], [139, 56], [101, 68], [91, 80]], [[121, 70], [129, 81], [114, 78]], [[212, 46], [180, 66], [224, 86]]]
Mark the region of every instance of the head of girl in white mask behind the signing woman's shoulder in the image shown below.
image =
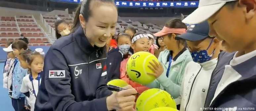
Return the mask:
[[64, 19], [57, 18], [54, 25], [57, 39], [66, 36], [70, 33], [71, 26]]

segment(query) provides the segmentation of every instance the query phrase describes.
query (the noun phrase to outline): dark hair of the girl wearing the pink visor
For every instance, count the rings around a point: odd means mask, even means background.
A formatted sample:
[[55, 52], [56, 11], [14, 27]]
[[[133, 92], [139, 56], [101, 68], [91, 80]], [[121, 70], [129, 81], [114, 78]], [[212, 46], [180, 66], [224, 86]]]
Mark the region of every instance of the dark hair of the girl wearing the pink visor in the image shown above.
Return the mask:
[[[186, 29], [187, 30], [186, 24], [184, 24], [182, 22], [182, 20], [179, 19], [179, 18], [174, 18], [174, 19], [169, 20], [165, 24], [165, 27], [174, 28], [174, 29]], [[179, 34], [175, 33], [175, 35], [179, 35]], [[172, 36], [172, 33], [169, 34], [169, 37], [171, 37], [171, 36]], [[175, 40], [177, 40], [177, 42], [178, 42], [178, 48], [179, 49], [180, 49], [180, 44], [186, 46], [186, 40], [185, 39], [176, 36]]]

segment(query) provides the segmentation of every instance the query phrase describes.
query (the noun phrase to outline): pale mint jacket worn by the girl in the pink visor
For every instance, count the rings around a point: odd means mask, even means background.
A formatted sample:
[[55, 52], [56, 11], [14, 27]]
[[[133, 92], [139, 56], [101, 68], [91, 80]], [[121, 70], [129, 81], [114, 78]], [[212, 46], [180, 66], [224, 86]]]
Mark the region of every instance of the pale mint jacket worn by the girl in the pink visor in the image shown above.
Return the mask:
[[170, 55], [170, 51], [167, 49], [162, 51], [159, 54], [158, 60], [162, 63], [164, 72], [160, 77], [156, 78], [152, 83], [148, 84], [147, 86], [149, 88], [159, 88], [159, 89], [165, 90], [169, 94], [171, 94], [174, 99], [176, 99], [180, 96], [180, 88], [181, 88], [186, 65], [190, 61], [192, 61], [192, 57], [189, 50], [186, 50], [185, 52], [183, 52], [176, 59], [176, 61], [174, 61], [171, 64], [169, 77], [167, 78], [166, 72], [169, 65], [169, 62], [167, 62], [168, 55]]

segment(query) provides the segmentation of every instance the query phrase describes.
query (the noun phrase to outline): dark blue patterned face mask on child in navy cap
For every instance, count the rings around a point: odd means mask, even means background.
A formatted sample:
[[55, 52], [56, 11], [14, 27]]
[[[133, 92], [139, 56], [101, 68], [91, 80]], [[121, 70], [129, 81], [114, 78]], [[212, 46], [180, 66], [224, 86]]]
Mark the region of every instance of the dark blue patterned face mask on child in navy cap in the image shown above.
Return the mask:
[[208, 55], [207, 50], [211, 46], [212, 42], [213, 42], [213, 39], [212, 39], [210, 45], [208, 46], [208, 48], [206, 50], [195, 51], [195, 52], [191, 53], [191, 56], [192, 56], [194, 62], [203, 63], [203, 62], [211, 60], [212, 55], [214, 54], [215, 49], [213, 50], [211, 55]]

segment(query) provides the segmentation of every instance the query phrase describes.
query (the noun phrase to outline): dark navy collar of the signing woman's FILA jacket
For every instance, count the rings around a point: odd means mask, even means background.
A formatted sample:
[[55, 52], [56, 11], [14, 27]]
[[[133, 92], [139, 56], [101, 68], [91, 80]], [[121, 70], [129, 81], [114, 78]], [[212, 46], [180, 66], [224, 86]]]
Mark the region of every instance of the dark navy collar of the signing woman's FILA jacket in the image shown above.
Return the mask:
[[104, 51], [106, 52], [106, 46], [104, 47], [97, 47], [97, 46], [92, 46], [90, 42], [88, 41], [87, 37], [84, 34], [83, 28], [80, 26], [76, 29], [74, 32], [74, 38], [78, 46], [85, 52], [87, 55], [92, 54], [95, 51], [99, 51], [100, 54], [103, 54]]

